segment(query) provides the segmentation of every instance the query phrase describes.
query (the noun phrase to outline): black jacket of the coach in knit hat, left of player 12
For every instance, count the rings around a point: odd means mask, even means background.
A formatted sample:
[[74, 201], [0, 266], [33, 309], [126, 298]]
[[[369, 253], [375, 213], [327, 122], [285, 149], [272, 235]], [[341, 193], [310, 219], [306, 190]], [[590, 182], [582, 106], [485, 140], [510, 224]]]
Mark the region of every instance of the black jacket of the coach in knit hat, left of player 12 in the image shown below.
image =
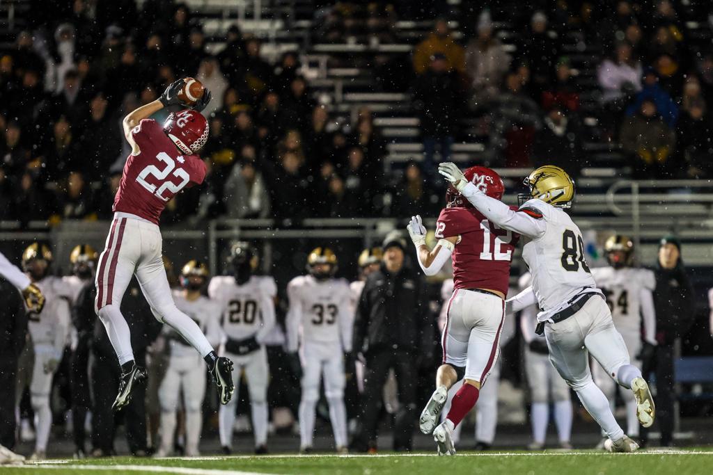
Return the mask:
[[366, 278], [354, 320], [354, 351], [392, 348], [430, 353], [433, 345], [426, 282], [404, 264], [396, 274], [384, 264]]

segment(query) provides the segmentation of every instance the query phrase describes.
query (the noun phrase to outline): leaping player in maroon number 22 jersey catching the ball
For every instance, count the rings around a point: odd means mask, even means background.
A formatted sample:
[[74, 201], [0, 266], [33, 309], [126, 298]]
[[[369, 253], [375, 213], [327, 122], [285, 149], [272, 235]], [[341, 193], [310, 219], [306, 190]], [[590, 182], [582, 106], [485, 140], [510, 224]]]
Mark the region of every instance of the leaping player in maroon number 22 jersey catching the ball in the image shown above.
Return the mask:
[[220, 393], [220, 402], [232, 397], [232, 362], [218, 357], [198, 325], [173, 303], [163, 268], [158, 218], [166, 203], [183, 188], [201, 184], [205, 164], [195, 155], [205, 145], [208, 125], [200, 111], [210, 102], [210, 91], [193, 109], [171, 113], [163, 127], [150, 115], [178, 105], [183, 79], [166, 88], [158, 100], [141, 106], [123, 120], [131, 155], [114, 199], [114, 219], [96, 273], [96, 313], [121, 365], [119, 393], [113, 409], [128, 404], [136, 384], [145, 381], [146, 370], [135, 365], [131, 334], [119, 307], [132, 276], [158, 320], [180, 333], [205, 360]]

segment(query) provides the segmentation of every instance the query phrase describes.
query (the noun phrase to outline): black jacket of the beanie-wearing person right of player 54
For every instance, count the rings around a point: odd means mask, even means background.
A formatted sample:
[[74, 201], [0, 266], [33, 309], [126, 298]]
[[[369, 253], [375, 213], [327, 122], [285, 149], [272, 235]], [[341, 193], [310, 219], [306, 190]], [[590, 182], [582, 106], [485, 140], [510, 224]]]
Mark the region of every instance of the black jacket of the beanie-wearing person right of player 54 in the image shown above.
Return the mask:
[[671, 345], [676, 338], [685, 335], [693, 323], [693, 289], [680, 260], [672, 269], [657, 264], [653, 271], [656, 340], [660, 345]]

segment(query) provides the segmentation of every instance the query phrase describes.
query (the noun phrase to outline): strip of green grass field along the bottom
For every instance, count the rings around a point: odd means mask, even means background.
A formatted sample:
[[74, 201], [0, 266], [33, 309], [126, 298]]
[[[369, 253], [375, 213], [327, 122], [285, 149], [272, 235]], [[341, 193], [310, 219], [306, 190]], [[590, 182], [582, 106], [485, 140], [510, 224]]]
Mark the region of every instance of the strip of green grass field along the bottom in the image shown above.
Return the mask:
[[206, 456], [198, 459], [46, 460], [39, 464], [0, 466], [0, 474], [314, 474], [314, 475], [606, 475], [713, 474], [713, 449], [650, 450], [635, 454], [599, 451], [463, 452], [455, 457], [432, 454], [365, 456]]

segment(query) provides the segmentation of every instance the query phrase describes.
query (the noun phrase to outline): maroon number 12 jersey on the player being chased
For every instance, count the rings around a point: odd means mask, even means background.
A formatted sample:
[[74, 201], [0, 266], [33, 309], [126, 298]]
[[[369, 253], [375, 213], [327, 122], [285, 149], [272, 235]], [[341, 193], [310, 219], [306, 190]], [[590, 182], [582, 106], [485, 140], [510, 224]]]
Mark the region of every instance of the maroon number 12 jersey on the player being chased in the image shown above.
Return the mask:
[[453, 249], [454, 288], [489, 288], [508, 294], [510, 263], [520, 235], [500, 229], [474, 208], [443, 208], [438, 239], [461, 236]]

